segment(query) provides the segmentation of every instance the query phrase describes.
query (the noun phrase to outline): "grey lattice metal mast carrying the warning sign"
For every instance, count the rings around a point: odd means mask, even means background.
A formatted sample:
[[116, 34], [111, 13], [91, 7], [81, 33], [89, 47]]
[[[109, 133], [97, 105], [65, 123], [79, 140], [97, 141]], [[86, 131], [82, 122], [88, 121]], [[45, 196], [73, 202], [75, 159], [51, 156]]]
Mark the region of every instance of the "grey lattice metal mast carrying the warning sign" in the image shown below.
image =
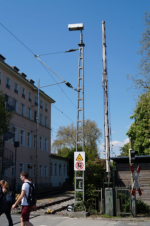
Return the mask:
[[[77, 97], [77, 133], [76, 133], [76, 152], [78, 147], [82, 146], [84, 151], [84, 46], [82, 30], [80, 33], [79, 46], [79, 64], [78, 64], [78, 97]], [[82, 200], [84, 201], [84, 171], [81, 171], [82, 176], [78, 176], [75, 171], [75, 203], [77, 202], [77, 192], [82, 192]], [[77, 189], [77, 180], [82, 182], [82, 187]], [[81, 184], [81, 183], [80, 183]]]

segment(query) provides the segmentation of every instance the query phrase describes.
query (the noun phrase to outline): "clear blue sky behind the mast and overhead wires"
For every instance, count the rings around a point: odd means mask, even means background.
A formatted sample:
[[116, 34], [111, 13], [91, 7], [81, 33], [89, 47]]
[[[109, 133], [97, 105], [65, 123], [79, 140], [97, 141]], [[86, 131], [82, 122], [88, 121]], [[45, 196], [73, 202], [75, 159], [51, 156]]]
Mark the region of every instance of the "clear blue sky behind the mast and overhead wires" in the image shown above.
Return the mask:
[[[102, 20], [106, 23], [107, 68], [112, 141], [115, 155], [127, 142], [130, 115], [135, 107], [132, 83], [126, 75], [135, 75], [139, 62], [138, 40], [143, 32], [144, 11], [149, 0], [7, 0], [1, 2], [0, 22], [35, 54], [53, 53], [78, 48], [80, 32], [69, 32], [68, 24], [83, 23], [85, 43], [85, 119], [95, 120], [104, 133], [102, 89]], [[6, 63], [40, 85], [54, 83], [38, 60], [0, 25], [0, 53]], [[41, 56], [40, 59], [64, 80], [77, 88], [78, 52]], [[51, 72], [50, 72], [51, 73]], [[57, 82], [60, 80], [51, 73]], [[64, 84], [61, 89], [77, 105], [77, 93]], [[55, 106], [76, 122], [76, 107], [58, 86], [43, 88], [55, 101]], [[71, 123], [52, 107], [52, 139], [59, 126]], [[104, 137], [99, 148], [103, 150]], [[104, 157], [102, 155], [102, 157]]]

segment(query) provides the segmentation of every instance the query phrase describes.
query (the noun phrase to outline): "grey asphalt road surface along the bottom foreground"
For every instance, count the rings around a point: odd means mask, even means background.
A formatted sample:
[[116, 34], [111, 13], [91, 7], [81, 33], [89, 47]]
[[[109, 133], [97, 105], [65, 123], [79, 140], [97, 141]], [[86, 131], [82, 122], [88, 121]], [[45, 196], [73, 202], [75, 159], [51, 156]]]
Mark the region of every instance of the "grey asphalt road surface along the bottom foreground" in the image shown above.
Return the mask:
[[[58, 215], [43, 215], [31, 216], [31, 223], [35, 226], [150, 226], [149, 222], [139, 221], [119, 221], [111, 219], [90, 219], [90, 218], [68, 218]], [[20, 226], [20, 216], [13, 215], [13, 222], [15, 226]], [[0, 226], [8, 226], [8, 221], [5, 216], [0, 217]]]

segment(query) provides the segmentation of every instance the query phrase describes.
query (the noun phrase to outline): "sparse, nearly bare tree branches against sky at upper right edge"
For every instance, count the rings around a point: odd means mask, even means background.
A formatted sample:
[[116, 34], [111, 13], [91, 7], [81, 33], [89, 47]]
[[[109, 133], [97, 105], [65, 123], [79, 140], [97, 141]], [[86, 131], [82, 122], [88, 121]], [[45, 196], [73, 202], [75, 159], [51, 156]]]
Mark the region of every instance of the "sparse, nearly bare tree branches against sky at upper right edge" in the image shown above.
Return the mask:
[[139, 41], [140, 62], [138, 64], [138, 73], [135, 76], [127, 75], [128, 79], [133, 81], [134, 87], [147, 92], [150, 87], [150, 13], [145, 11], [144, 32]]

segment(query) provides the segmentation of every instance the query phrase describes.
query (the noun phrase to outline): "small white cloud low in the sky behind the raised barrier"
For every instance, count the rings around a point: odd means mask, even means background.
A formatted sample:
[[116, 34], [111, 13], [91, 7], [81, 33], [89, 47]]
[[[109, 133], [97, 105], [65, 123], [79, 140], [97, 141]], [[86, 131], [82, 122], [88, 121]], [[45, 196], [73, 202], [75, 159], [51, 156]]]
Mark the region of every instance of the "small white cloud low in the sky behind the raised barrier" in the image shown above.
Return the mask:
[[[126, 138], [124, 141], [118, 141], [118, 140], [114, 140], [110, 143], [110, 150], [111, 150], [111, 156], [117, 156], [120, 154], [120, 147], [123, 147], [125, 144], [129, 143], [129, 138]], [[104, 155], [104, 143], [102, 143], [100, 145], [100, 153], [101, 153], [101, 158], [105, 158]], [[112, 153], [113, 152], [113, 153]]]

